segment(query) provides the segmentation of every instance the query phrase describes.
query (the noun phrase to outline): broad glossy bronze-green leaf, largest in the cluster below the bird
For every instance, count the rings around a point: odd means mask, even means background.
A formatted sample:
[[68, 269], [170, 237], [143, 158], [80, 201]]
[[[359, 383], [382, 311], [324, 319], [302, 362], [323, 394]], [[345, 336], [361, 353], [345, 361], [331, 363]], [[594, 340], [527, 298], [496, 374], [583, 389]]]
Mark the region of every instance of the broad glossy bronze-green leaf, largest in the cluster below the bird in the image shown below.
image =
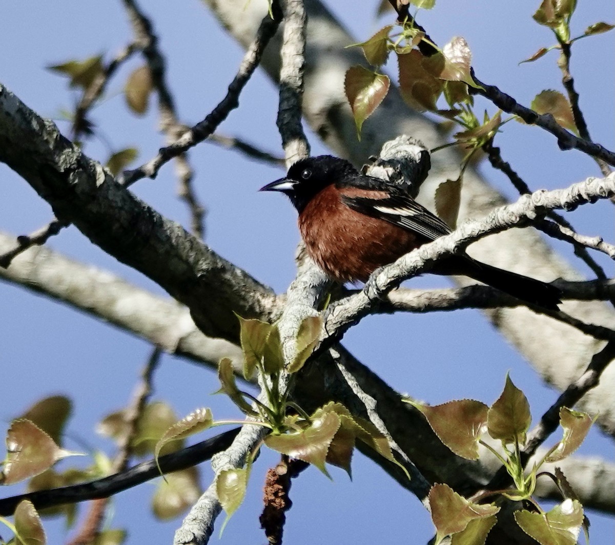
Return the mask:
[[325, 412], [323, 409], [317, 409], [310, 419], [311, 425], [307, 428], [283, 435], [269, 435], [264, 442], [277, 452], [315, 465], [328, 476], [325, 460], [341, 421], [335, 412]]

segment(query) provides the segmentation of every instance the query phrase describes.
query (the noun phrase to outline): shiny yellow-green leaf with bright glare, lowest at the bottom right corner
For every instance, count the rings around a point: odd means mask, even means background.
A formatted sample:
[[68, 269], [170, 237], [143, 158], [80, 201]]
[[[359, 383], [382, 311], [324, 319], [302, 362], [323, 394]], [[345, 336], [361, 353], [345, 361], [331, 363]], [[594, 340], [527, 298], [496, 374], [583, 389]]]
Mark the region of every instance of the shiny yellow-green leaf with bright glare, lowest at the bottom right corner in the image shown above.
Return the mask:
[[583, 508], [576, 500], [564, 500], [546, 513], [517, 511], [515, 520], [541, 545], [575, 545], [583, 523]]

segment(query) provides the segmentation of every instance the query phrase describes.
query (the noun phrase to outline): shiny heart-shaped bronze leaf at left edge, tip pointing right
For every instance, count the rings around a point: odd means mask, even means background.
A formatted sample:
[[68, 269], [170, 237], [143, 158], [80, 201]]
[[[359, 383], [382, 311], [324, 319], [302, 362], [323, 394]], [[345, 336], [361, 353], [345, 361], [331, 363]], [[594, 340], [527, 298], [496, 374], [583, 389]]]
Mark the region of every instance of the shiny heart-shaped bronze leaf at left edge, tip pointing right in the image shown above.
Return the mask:
[[7, 456], [1, 484], [15, 484], [49, 469], [55, 462], [76, 453], [60, 449], [54, 440], [30, 420], [12, 421], [6, 437]]

